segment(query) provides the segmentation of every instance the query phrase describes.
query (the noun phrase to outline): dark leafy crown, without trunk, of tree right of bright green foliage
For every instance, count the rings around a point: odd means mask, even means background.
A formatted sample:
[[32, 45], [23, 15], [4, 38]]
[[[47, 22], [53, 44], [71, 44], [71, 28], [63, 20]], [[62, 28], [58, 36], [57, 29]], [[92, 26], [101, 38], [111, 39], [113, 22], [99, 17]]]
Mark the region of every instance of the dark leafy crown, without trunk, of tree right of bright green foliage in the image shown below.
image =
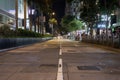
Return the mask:
[[97, 20], [98, 6], [96, 0], [82, 0], [83, 7], [81, 10], [81, 19], [84, 22], [95, 22]]

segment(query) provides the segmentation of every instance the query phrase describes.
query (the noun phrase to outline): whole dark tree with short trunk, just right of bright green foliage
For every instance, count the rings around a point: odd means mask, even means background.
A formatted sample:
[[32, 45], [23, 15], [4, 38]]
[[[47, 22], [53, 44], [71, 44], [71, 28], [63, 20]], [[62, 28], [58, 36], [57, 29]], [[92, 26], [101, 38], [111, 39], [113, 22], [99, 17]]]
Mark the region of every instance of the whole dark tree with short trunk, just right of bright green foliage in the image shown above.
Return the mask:
[[87, 26], [90, 28], [90, 35], [93, 35], [93, 25], [97, 21], [97, 14], [99, 7], [96, 4], [97, 0], [81, 0], [83, 3], [80, 8], [81, 11], [81, 20], [84, 21]]

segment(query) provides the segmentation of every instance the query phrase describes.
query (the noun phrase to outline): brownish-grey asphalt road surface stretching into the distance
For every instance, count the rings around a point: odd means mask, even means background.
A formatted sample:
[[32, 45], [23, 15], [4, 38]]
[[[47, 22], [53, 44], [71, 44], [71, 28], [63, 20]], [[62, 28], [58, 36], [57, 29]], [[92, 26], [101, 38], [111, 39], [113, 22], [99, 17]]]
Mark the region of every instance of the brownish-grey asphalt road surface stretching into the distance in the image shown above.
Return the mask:
[[120, 80], [120, 53], [53, 39], [0, 53], [0, 80]]

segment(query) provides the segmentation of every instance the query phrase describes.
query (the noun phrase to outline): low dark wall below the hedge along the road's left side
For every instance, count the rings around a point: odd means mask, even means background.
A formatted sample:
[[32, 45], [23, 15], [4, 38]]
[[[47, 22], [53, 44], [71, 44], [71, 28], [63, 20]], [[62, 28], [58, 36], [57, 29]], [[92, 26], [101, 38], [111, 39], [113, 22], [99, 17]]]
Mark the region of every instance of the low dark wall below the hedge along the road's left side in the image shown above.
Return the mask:
[[0, 49], [17, 47], [49, 40], [51, 38], [1, 38]]

